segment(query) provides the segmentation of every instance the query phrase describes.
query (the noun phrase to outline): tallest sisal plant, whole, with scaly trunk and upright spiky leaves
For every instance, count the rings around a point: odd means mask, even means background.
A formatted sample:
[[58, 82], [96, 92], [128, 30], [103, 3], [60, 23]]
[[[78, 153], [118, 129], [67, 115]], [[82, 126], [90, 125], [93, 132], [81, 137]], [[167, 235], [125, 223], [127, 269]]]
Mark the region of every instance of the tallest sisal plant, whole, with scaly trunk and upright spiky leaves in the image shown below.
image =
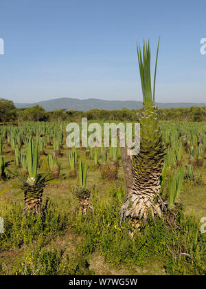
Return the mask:
[[[157, 73], [157, 56], [152, 96], [150, 76], [150, 43], [144, 42], [143, 51], [137, 46], [139, 72], [143, 94], [143, 108], [140, 115], [140, 151], [133, 156], [133, 184], [127, 192], [126, 200], [121, 208], [121, 222], [131, 217], [135, 223], [143, 220], [146, 224], [148, 214], [161, 216], [165, 210], [159, 191], [165, 155], [165, 145], [161, 136], [157, 110], [155, 109], [155, 81]], [[125, 170], [124, 170], [125, 171]]]

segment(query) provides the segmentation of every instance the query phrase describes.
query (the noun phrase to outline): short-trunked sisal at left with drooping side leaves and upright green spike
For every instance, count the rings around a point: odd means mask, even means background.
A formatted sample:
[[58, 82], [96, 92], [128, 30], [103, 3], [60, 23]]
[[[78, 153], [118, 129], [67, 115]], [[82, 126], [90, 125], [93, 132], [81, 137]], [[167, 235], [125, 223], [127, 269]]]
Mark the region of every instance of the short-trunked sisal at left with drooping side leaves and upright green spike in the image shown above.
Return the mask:
[[28, 177], [25, 178], [19, 171], [10, 171], [16, 178], [19, 178], [21, 184], [14, 184], [0, 193], [5, 193], [11, 189], [19, 189], [18, 193], [24, 192], [25, 211], [32, 211], [34, 215], [42, 213], [42, 197], [45, 186], [54, 179], [47, 180], [47, 175], [37, 173], [38, 166], [38, 142], [34, 143], [30, 138], [27, 147], [27, 169]]

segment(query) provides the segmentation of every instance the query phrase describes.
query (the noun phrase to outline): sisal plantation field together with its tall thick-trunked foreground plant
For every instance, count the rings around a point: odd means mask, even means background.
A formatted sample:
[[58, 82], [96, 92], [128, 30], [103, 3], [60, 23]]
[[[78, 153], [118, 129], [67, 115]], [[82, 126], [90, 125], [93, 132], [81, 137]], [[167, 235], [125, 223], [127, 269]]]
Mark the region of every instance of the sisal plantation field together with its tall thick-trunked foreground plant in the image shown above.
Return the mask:
[[88, 122], [69, 148], [66, 122], [0, 127], [1, 275], [205, 275], [206, 122], [159, 121], [158, 52], [152, 89], [150, 43], [137, 46], [130, 136], [119, 125], [105, 145]]

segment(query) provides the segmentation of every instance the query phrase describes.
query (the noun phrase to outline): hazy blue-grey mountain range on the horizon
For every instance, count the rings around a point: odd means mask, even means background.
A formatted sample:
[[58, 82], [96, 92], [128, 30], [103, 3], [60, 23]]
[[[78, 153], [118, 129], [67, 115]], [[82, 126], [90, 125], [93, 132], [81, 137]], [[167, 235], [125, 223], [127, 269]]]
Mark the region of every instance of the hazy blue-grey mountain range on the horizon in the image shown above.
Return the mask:
[[[34, 105], [40, 105], [46, 111], [52, 111], [56, 109], [67, 110], [80, 110], [89, 111], [90, 109], [104, 109], [104, 110], [119, 110], [126, 107], [127, 109], [139, 109], [142, 107], [141, 101], [134, 100], [102, 100], [96, 98], [89, 98], [80, 100], [77, 98], [55, 98], [38, 103], [14, 103], [17, 108], [33, 107]], [[156, 103], [159, 108], [172, 108], [172, 107], [202, 107], [205, 103]]]

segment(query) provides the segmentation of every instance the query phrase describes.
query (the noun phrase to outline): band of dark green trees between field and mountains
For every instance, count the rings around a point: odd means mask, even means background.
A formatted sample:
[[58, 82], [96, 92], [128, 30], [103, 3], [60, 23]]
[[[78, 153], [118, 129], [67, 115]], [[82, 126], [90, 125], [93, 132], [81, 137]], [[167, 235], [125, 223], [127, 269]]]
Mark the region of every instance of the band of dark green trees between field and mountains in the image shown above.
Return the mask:
[[[82, 117], [88, 120], [117, 120], [135, 122], [139, 120], [141, 109], [139, 110], [104, 110], [91, 109], [89, 111], [75, 111], [59, 109], [54, 111], [45, 111], [43, 107], [35, 105], [34, 107], [17, 109], [12, 100], [0, 98], [0, 122], [24, 122], [24, 121], [80, 121]], [[190, 108], [165, 108], [158, 109], [159, 120], [183, 120], [183, 121], [205, 121], [206, 107]]]

